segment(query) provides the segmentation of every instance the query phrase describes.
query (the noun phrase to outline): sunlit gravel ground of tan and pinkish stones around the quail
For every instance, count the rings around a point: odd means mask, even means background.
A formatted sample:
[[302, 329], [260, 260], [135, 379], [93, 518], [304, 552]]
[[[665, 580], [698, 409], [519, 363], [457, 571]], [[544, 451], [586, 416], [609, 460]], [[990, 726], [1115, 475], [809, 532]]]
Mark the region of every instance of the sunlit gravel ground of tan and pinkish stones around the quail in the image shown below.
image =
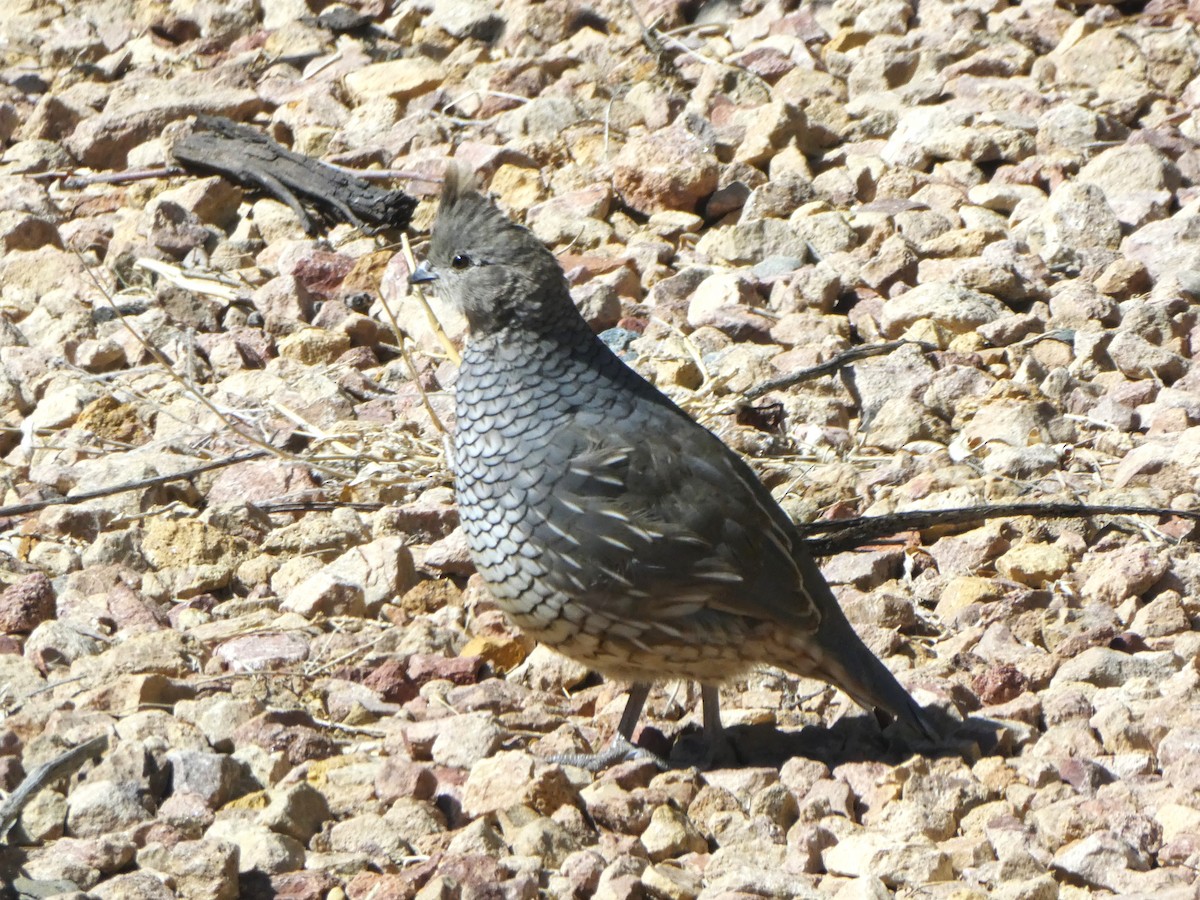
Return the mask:
[[[726, 691], [740, 767], [551, 764], [602, 745], [624, 685], [530, 647], [472, 577], [455, 367], [403, 254], [215, 178], [70, 176], [161, 166], [202, 113], [354, 169], [466, 160], [798, 521], [1194, 512], [1198, 20], [5, 2], [0, 788], [107, 738], [24, 805], [8, 895], [1195, 896], [1194, 518], [829, 558], [872, 648], [959, 722], [938, 748], [762, 671]], [[685, 762], [696, 700], [656, 689], [643, 745]]]

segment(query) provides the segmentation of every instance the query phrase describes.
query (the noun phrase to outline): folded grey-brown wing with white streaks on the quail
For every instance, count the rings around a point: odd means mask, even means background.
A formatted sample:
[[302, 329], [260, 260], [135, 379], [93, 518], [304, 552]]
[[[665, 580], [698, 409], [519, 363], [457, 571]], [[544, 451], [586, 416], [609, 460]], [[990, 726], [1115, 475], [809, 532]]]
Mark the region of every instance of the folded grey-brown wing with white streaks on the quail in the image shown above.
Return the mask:
[[738, 456], [682, 413], [643, 407], [604, 426], [576, 416], [544, 464], [553, 486], [533, 540], [559, 590], [668, 630], [730, 616], [820, 625], [791, 520]]

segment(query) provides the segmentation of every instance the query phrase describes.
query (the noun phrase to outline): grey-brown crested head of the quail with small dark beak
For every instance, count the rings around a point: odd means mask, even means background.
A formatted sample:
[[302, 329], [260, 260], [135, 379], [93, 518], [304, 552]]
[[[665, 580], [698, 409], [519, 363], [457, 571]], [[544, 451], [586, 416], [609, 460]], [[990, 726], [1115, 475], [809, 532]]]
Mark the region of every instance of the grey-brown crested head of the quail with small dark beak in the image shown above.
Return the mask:
[[457, 308], [473, 336], [529, 328], [575, 311], [563, 268], [529, 229], [505, 216], [451, 163], [426, 260], [412, 274]]

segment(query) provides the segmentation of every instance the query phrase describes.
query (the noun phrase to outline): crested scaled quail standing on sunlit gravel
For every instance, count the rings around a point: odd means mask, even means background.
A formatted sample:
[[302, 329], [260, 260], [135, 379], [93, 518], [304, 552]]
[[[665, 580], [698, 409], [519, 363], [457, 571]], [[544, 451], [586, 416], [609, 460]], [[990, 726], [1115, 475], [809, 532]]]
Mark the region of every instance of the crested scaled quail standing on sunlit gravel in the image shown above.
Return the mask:
[[821, 678], [932, 737], [854, 634], [754, 472], [596, 337], [562, 266], [451, 167], [412, 275], [467, 318], [455, 490], [475, 565], [530, 637], [634, 683], [718, 685], [757, 664]]

